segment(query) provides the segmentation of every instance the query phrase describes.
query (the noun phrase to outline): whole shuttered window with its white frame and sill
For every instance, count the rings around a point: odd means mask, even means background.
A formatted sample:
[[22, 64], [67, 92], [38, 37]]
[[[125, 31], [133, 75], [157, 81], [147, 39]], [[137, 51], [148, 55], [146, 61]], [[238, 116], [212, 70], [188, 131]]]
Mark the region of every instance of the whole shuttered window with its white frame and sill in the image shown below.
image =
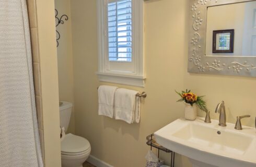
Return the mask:
[[97, 0], [101, 81], [144, 87], [143, 0]]

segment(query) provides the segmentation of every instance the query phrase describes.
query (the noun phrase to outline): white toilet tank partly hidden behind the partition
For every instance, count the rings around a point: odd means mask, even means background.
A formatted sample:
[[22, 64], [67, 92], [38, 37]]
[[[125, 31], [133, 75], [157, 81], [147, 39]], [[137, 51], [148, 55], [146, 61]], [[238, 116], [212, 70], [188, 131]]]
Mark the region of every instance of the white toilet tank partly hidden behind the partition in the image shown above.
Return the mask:
[[67, 131], [71, 112], [72, 112], [72, 103], [62, 101], [62, 104], [60, 105], [60, 124], [61, 127], [65, 128], [65, 132]]

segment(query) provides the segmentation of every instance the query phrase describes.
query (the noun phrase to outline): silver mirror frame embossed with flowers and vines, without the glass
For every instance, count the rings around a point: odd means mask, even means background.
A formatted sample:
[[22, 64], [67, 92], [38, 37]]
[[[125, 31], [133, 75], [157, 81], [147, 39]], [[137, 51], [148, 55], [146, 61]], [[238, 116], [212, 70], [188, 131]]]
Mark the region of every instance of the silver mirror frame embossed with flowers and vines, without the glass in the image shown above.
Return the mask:
[[207, 7], [248, 0], [191, 0], [188, 72], [256, 77], [256, 57], [205, 55]]

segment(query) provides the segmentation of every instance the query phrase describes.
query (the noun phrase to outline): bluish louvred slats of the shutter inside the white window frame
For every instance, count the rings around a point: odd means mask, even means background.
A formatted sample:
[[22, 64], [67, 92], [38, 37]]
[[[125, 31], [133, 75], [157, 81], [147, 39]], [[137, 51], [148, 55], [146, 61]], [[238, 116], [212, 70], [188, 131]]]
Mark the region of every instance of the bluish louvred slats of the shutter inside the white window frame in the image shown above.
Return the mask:
[[132, 62], [132, 0], [108, 3], [109, 61]]

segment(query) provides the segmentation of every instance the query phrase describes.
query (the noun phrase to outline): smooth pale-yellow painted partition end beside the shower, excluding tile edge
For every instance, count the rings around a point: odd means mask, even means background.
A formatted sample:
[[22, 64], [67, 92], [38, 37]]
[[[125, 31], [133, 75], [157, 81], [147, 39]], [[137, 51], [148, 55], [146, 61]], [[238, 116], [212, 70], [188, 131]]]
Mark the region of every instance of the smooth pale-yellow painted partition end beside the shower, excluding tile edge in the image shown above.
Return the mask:
[[37, 1], [42, 115], [46, 167], [61, 166], [59, 88], [54, 1]]

